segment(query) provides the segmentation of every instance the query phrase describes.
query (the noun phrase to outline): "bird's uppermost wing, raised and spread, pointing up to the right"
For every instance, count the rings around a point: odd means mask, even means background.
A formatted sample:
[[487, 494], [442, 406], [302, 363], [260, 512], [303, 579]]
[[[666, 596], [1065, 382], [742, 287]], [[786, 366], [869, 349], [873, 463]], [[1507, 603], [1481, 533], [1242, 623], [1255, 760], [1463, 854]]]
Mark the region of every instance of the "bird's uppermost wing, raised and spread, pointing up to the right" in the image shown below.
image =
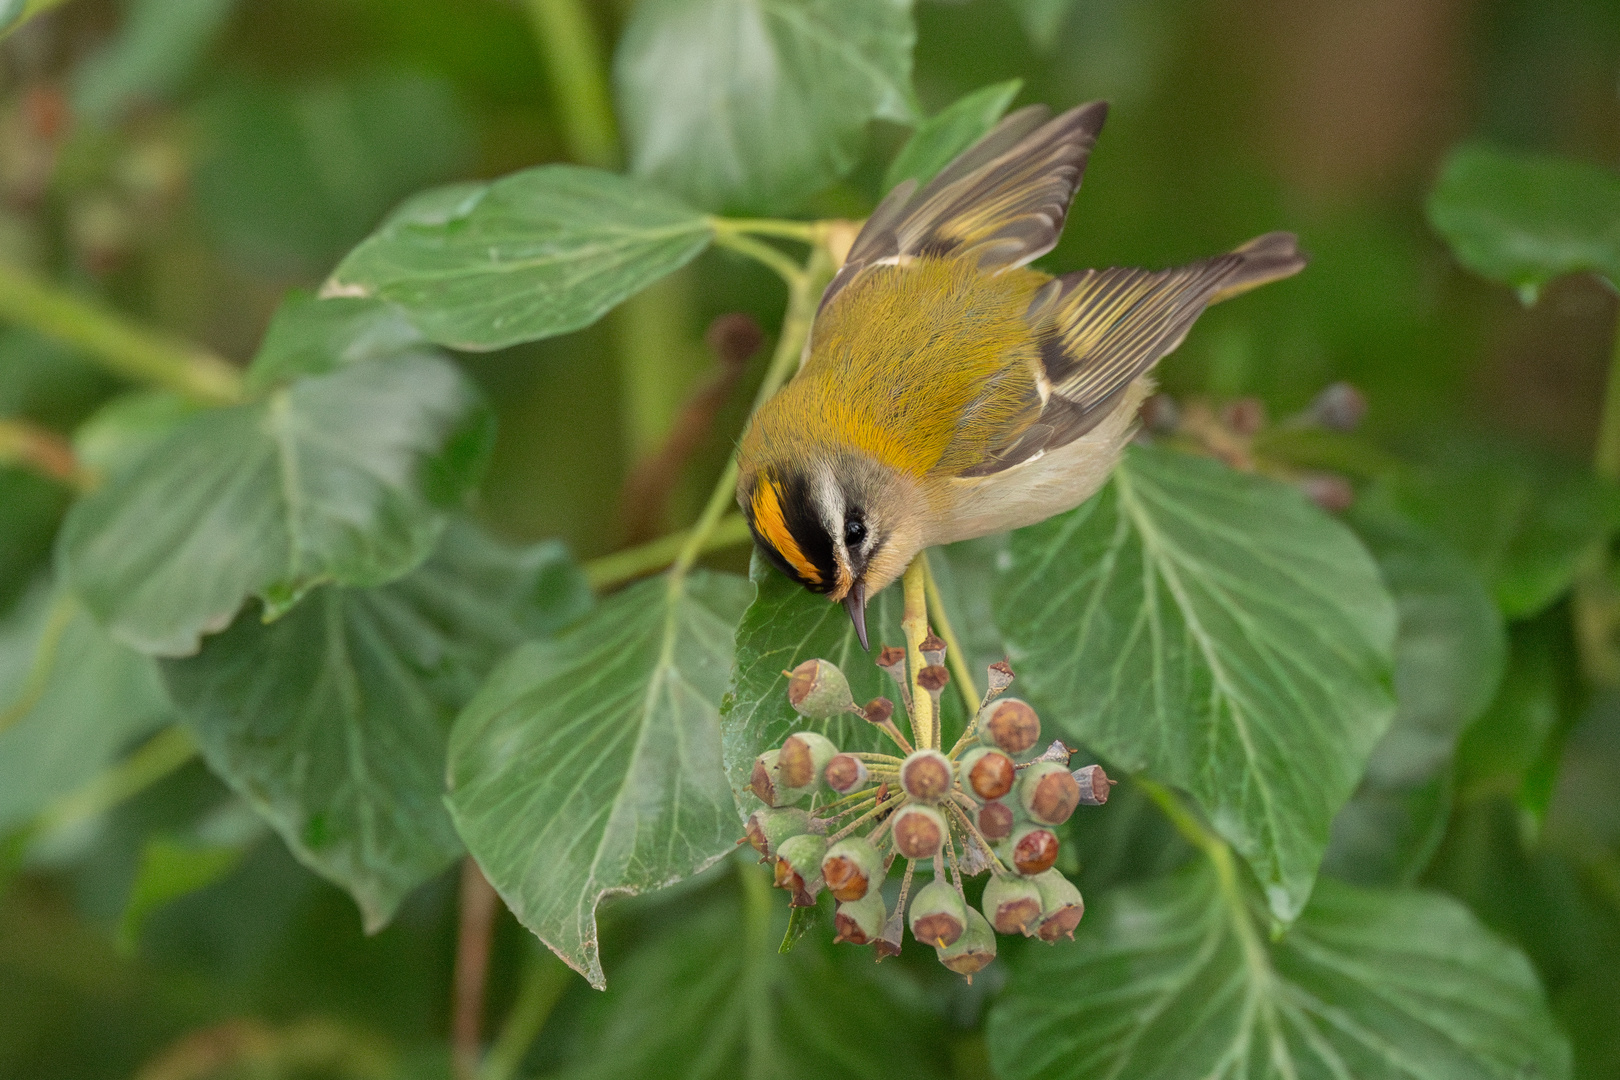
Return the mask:
[[962, 151], [925, 188], [894, 188], [855, 236], [821, 306], [872, 266], [972, 253], [987, 272], [1024, 266], [1058, 243], [1081, 188], [1106, 102], [1048, 120], [1045, 105], [1021, 108]]

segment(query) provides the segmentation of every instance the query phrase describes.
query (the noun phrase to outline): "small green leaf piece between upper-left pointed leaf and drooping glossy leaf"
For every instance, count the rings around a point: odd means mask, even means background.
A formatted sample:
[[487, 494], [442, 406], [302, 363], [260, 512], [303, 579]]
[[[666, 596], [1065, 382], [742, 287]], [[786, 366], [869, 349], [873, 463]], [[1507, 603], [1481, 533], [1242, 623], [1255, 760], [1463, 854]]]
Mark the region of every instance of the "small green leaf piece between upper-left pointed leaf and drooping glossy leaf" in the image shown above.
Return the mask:
[[421, 350], [421, 335], [405, 313], [381, 300], [316, 300], [293, 290], [271, 317], [246, 387], [259, 393], [300, 376], [324, 376], [348, 364], [392, 359]]

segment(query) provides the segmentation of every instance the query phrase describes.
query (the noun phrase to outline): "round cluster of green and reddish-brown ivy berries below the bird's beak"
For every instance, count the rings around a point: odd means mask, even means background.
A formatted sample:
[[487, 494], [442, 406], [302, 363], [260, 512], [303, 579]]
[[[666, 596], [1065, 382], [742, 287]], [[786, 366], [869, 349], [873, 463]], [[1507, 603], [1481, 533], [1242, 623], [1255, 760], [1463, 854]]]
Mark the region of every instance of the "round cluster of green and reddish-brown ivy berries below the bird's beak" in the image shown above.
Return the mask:
[[[930, 633], [920, 651], [927, 667], [915, 685], [938, 717], [949, 678], [944, 643]], [[906, 649], [885, 648], [876, 662], [915, 721]], [[1040, 717], [1029, 703], [1001, 698], [1013, 683], [1006, 662], [990, 665], [978, 712], [949, 753], [938, 746], [938, 724], [927, 725], [935, 745], [914, 746], [894, 724], [893, 701], [855, 704], [849, 680], [828, 661], [805, 661], [786, 674], [787, 699], [802, 717], [854, 712], [904, 755], [841, 751], [826, 735], [805, 730], [755, 758], [750, 789], [765, 808], [748, 818], [747, 840], [774, 863], [774, 882], [792, 894], [794, 907], [815, 905], [826, 889], [838, 900], [836, 941], [870, 944], [878, 960], [899, 954], [909, 923], [912, 938], [933, 946], [940, 962], [969, 981], [995, 959], [998, 933], [1048, 942], [1074, 938], [1085, 904], [1053, 868], [1053, 829], [1076, 806], [1108, 801], [1113, 780], [1095, 764], [1071, 771], [1074, 751], [1061, 742], [1032, 753]], [[889, 907], [883, 886], [896, 858], [906, 860], [906, 874]], [[925, 861], [930, 881], [914, 894]], [[964, 881], [987, 871], [991, 878], [975, 910]]]

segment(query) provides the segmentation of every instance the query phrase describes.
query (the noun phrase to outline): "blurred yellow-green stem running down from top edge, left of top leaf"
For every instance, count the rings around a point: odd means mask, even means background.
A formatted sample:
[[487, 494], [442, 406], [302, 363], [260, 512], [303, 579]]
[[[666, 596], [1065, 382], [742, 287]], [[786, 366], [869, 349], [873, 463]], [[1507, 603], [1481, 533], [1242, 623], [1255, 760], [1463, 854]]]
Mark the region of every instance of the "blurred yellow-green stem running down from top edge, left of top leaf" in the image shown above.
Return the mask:
[[617, 168], [619, 133], [608, 96], [608, 68], [590, 13], [580, 0], [526, 0], [526, 6], [557, 99], [569, 157], [582, 165]]

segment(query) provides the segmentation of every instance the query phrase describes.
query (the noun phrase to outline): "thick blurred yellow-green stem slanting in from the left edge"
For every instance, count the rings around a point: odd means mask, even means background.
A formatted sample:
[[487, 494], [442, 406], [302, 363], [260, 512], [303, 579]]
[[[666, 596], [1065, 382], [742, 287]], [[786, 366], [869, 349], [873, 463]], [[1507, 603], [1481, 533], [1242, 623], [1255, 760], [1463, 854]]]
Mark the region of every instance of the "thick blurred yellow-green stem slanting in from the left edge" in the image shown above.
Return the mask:
[[214, 353], [134, 325], [122, 314], [0, 264], [0, 319], [73, 345], [87, 359], [207, 405], [241, 400], [241, 372]]

